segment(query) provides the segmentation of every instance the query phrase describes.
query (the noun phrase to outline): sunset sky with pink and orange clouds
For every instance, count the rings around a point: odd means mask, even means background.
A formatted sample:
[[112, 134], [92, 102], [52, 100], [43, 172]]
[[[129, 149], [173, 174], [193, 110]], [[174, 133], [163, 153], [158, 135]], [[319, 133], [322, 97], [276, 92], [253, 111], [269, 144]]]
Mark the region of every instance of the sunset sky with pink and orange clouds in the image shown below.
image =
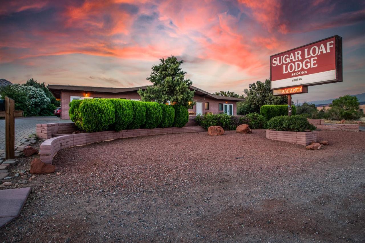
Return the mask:
[[0, 77], [13, 83], [133, 87], [176, 55], [193, 85], [242, 94], [270, 77], [270, 55], [333, 35], [343, 82], [293, 101], [365, 92], [365, 1], [0, 1]]

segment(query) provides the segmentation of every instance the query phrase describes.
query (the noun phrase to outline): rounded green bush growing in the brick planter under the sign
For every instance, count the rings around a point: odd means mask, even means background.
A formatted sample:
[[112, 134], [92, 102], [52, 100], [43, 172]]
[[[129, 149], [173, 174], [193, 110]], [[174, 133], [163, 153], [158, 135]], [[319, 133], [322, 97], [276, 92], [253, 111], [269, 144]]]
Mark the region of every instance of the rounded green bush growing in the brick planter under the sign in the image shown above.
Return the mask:
[[316, 127], [310, 124], [306, 117], [294, 116], [276, 116], [268, 121], [268, 129], [276, 131], [304, 132], [314, 131]]

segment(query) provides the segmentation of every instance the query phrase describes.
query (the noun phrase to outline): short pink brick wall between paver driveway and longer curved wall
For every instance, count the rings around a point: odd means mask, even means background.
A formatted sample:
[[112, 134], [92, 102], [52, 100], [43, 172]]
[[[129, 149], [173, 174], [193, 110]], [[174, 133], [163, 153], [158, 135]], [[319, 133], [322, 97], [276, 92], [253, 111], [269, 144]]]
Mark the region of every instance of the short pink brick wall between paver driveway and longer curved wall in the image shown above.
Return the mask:
[[76, 131], [74, 123], [48, 123], [37, 124], [37, 137], [41, 139], [52, 138], [53, 134], [68, 134]]

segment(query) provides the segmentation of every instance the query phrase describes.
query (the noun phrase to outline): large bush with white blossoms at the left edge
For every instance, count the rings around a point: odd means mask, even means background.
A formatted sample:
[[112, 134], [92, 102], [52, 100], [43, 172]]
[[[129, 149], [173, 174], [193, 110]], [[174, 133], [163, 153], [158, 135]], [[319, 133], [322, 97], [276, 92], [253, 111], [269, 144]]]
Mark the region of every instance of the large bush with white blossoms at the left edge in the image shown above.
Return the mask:
[[24, 116], [37, 116], [41, 109], [50, 104], [46, 93], [39, 88], [19, 84], [8, 85], [1, 90], [1, 96], [15, 101], [15, 109], [24, 111]]

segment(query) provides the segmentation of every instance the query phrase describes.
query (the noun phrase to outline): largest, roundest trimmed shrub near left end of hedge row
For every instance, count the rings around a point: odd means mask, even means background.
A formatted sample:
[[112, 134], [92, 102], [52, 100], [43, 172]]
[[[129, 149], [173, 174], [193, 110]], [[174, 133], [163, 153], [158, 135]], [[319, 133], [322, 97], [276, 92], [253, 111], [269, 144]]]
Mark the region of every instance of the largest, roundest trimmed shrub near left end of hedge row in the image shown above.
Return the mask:
[[114, 105], [109, 99], [85, 99], [78, 110], [82, 129], [87, 132], [105, 131], [115, 121]]

